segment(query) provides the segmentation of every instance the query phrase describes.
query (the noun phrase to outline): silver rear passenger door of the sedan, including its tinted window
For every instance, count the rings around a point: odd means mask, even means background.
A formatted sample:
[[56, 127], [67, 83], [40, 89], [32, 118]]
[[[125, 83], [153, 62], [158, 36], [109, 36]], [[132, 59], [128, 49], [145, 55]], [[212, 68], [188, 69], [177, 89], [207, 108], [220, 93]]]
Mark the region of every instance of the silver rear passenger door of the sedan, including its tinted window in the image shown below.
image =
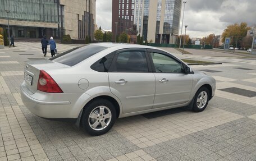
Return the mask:
[[116, 53], [108, 72], [109, 86], [122, 103], [123, 112], [151, 109], [156, 79], [145, 49], [126, 49]]

